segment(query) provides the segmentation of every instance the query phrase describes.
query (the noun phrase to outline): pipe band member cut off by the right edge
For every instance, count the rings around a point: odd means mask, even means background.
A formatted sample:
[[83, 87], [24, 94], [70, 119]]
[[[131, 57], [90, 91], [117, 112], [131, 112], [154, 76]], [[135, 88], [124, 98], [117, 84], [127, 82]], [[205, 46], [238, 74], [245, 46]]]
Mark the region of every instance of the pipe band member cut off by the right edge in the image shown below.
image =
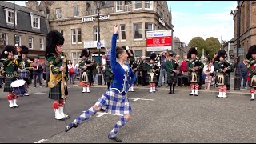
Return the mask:
[[246, 54], [246, 62], [247, 62], [247, 69], [249, 71], [250, 79], [250, 101], [254, 101], [254, 95], [256, 90], [256, 45], [250, 46], [247, 54]]

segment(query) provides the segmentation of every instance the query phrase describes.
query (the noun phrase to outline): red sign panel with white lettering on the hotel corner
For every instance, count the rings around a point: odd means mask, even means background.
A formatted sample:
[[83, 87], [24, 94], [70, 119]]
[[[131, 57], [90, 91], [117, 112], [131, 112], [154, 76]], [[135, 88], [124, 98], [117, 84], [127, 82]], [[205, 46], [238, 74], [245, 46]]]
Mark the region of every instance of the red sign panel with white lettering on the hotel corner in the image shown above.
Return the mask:
[[146, 38], [146, 46], [171, 46], [171, 36]]

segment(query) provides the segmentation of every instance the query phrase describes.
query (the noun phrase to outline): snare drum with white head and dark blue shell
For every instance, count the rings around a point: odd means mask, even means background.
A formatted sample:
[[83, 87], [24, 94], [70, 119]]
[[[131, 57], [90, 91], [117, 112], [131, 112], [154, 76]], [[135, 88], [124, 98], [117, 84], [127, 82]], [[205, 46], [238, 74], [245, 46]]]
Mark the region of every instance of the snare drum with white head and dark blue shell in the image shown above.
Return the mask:
[[26, 81], [18, 79], [10, 84], [16, 96], [24, 96], [27, 93]]

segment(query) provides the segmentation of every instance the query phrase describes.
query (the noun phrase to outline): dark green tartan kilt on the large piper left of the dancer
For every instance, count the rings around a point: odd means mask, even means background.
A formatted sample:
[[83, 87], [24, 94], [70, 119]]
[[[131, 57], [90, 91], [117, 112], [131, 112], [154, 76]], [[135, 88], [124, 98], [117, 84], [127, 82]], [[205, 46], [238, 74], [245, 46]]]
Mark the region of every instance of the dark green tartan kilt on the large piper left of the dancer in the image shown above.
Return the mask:
[[[49, 90], [49, 98], [54, 100], [63, 99], [62, 98], [62, 90], [61, 90], [61, 83], [58, 82], [58, 85], [54, 86], [54, 88], [50, 88]], [[65, 88], [65, 95], [68, 95], [67, 86]]]

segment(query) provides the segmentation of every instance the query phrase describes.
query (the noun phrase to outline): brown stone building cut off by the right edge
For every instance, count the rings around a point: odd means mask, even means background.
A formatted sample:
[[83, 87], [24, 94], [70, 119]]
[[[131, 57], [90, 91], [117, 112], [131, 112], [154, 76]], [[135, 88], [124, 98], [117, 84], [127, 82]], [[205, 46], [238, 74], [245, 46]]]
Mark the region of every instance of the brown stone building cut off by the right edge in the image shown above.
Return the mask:
[[256, 45], [256, 1], [238, 1], [238, 9], [230, 14], [233, 14], [234, 19], [234, 57], [237, 56], [238, 48], [238, 55], [243, 59], [249, 47]]

